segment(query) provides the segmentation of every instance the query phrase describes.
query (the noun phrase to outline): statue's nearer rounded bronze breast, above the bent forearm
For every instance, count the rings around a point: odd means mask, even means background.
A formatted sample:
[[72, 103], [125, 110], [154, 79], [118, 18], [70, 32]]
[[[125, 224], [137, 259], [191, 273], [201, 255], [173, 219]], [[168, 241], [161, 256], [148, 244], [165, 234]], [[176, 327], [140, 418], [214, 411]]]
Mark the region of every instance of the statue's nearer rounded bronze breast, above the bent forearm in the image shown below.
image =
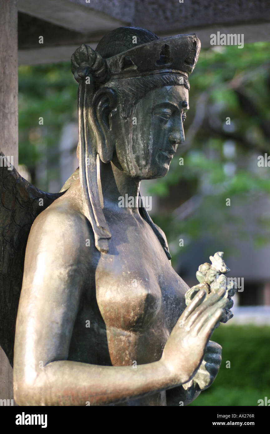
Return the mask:
[[105, 270], [96, 272], [98, 307], [106, 326], [126, 331], [149, 328], [162, 306], [155, 276], [145, 269], [119, 270], [106, 259]]

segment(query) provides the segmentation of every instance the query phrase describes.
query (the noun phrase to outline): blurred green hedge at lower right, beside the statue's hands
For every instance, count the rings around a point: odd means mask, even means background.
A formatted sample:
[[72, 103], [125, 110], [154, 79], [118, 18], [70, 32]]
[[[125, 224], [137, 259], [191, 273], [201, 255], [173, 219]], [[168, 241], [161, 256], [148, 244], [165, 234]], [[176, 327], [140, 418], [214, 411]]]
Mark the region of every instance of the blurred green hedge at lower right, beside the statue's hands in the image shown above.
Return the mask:
[[[222, 346], [214, 383], [190, 405], [252, 405], [270, 398], [270, 326], [220, 325], [211, 340]], [[226, 368], [226, 362], [231, 368]]]

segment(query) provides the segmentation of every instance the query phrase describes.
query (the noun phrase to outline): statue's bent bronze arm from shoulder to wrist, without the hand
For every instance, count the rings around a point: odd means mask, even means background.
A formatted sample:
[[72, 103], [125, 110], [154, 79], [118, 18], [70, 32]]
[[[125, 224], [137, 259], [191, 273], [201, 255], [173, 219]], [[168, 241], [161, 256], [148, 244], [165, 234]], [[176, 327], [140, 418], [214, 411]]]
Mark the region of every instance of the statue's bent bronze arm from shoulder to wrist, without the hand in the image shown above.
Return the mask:
[[14, 349], [14, 397], [19, 405], [104, 405], [176, 384], [162, 361], [135, 370], [67, 360], [89, 276], [84, 254], [89, 233], [82, 219], [48, 209], [30, 231]]

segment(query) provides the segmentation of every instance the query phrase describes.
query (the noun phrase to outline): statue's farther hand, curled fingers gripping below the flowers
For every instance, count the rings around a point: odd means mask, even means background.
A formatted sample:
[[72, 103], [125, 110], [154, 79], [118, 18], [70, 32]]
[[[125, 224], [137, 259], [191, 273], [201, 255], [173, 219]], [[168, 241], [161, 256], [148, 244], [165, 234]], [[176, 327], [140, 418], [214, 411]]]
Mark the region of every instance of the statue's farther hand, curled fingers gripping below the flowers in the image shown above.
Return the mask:
[[207, 389], [215, 380], [221, 365], [221, 350], [222, 347], [217, 342], [209, 341], [206, 345], [202, 364], [193, 377], [194, 383], [198, 385], [198, 390]]

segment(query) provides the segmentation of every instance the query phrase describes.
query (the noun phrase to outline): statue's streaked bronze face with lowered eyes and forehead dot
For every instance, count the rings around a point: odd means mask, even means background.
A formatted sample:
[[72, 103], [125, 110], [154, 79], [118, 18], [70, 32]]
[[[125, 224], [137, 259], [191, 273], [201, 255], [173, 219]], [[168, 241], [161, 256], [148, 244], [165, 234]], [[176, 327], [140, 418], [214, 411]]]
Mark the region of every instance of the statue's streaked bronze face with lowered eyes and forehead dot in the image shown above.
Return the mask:
[[123, 170], [140, 179], [166, 175], [178, 145], [185, 141], [183, 121], [188, 109], [188, 90], [166, 86], [147, 92], [130, 118], [118, 114], [116, 153]]

